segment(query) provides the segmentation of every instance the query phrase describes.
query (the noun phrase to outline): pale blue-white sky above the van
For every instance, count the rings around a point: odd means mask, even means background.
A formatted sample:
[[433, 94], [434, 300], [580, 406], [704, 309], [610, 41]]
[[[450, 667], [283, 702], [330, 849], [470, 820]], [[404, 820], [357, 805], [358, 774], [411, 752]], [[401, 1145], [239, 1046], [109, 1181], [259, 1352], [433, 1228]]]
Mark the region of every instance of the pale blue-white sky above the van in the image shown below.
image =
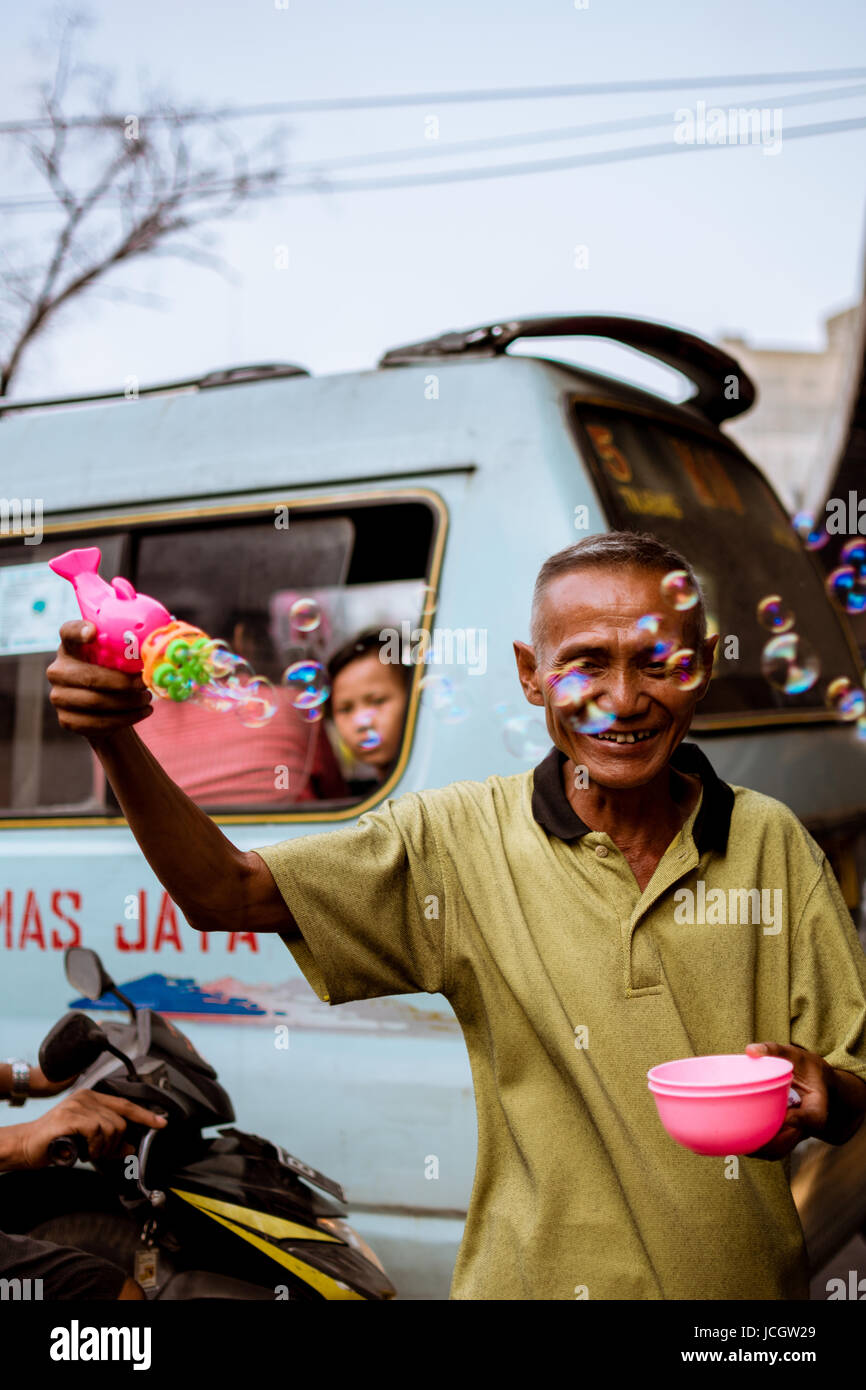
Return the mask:
[[[36, 111], [33, 50], [57, 7], [4, 0], [0, 121]], [[63, 13], [63, 11], [61, 11]], [[161, 88], [175, 104], [249, 106], [556, 83], [689, 79], [680, 90], [544, 100], [423, 101], [281, 117], [289, 165], [656, 114], [653, 129], [348, 170], [393, 175], [662, 145], [641, 160], [388, 190], [282, 196], [210, 231], [227, 271], [167, 256], [115, 271], [26, 354], [22, 399], [122, 389], [214, 368], [296, 361], [370, 368], [384, 350], [449, 328], [550, 313], [634, 314], [717, 341], [816, 349], [823, 320], [862, 293], [866, 129], [791, 138], [866, 117], [863, 95], [785, 99], [831, 82], [716, 86], [714, 75], [866, 68], [862, 0], [92, 0], [81, 56], [115, 78], [115, 110]], [[705, 81], [701, 81], [705, 79]], [[781, 145], [677, 145], [698, 104], [781, 110]], [[78, 107], [81, 110], [81, 107]], [[245, 146], [271, 118], [232, 118]], [[769, 128], [767, 128], [769, 129]], [[86, 181], [81, 168], [81, 179]], [[0, 202], [42, 193], [0, 135]], [[81, 182], [81, 181], [79, 181]], [[50, 254], [49, 211], [4, 215], [8, 256]], [[578, 250], [580, 249], [580, 250]], [[279, 263], [279, 264], [278, 264]], [[110, 296], [107, 291], [111, 289]], [[121, 293], [122, 297], [114, 297]], [[531, 348], [530, 350], [538, 350]], [[664, 373], [592, 345], [556, 346], [649, 385]], [[677, 393], [673, 386], [673, 393]], [[683, 392], [678, 392], [683, 393]]]

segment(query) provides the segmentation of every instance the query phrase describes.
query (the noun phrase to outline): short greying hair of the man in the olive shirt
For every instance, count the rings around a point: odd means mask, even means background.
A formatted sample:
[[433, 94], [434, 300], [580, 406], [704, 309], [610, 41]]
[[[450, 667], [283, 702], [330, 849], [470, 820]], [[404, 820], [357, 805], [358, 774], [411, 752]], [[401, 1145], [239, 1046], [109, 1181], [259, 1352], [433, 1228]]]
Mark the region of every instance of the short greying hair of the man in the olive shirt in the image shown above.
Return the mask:
[[671, 570], [685, 570], [698, 594], [695, 606], [685, 610], [685, 641], [689, 646], [699, 648], [706, 638], [706, 605], [698, 577], [685, 556], [646, 531], [603, 531], [601, 535], [588, 535], [575, 545], [557, 550], [538, 571], [530, 619], [530, 634], [537, 652], [542, 642], [541, 607], [550, 581], [577, 570], [617, 569], [651, 570], [659, 575]]

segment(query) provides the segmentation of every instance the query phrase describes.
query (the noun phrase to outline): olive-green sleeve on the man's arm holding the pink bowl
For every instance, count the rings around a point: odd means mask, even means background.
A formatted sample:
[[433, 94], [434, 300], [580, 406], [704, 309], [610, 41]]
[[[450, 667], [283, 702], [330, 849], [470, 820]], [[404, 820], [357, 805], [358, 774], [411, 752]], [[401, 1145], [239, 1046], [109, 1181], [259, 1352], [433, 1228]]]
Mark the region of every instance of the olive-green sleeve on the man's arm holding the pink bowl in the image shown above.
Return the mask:
[[866, 955], [826, 858], [791, 958], [791, 1041], [866, 1079]]

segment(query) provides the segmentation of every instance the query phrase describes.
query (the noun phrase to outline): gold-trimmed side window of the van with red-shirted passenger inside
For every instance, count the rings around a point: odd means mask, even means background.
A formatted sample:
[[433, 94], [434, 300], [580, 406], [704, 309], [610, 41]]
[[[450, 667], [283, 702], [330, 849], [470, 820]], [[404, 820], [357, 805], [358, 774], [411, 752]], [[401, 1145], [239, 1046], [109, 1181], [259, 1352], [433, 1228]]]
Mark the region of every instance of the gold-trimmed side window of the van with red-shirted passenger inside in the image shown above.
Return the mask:
[[[327, 705], [295, 706], [281, 674], [302, 660], [325, 664], [361, 630], [400, 630], [405, 621], [414, 628], [430, 603], [435, 530], [430, 503], [395, 498], [1, 545], [0, 595], [17, 595], [17, 607], [4, 605], [0, 624], [0, 815], [120, 815], [89, 745], [60, 728], [47, 698], [57, 628], [79, 617], [71, 587], [47, 570], [53, 556], [99, 545], [104, 578], [129, 578], [272, 682], [277, 713], [259, 726], [232, 710], [168, 699], [154, 699], [154, 713], [136, 726], [193, 801], [227, 813], [321, 812], [370, 795], [375, 773], [353, 763]], [[46, 606], [43, 589], [49, 612], [39, 624], [32, 610]], [[313, 605], [300, 623], [299, 599]]]

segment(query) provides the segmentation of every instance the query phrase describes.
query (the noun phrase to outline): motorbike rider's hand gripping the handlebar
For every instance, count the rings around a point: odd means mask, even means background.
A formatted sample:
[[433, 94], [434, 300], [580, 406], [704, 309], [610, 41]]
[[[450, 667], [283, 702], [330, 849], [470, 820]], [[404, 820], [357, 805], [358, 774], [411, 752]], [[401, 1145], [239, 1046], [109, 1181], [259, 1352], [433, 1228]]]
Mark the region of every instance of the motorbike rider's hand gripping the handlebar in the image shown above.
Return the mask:
[[124, 1140], [126, 1122], [145, 1129], [163, 1129], [161, 1115], [135, 1105], [120, 1095], [100, 1095], [97, 1091], [75, 1091], [54, 1105], [47, 1115], [18, 1126], [17, 1159], [10, 1168], [47, 1168], [49, 1145], [61, 1134], [81, 1134], [92, 1159], [117, 1158], [133, 1154]]

